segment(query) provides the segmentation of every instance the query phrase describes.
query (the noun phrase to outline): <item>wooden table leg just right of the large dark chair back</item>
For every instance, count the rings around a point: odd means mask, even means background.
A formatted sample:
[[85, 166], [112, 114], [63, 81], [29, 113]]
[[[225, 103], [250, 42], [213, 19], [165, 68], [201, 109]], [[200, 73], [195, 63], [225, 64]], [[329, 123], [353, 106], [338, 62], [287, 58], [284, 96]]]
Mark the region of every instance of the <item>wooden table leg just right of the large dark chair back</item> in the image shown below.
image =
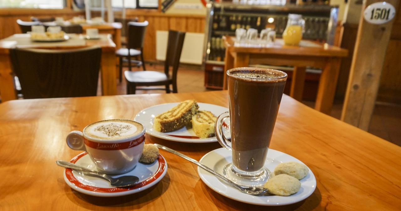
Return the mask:
[[116, 95], [115, 52], [103, 51], [101, 56], [101, 82], [103, 95]]

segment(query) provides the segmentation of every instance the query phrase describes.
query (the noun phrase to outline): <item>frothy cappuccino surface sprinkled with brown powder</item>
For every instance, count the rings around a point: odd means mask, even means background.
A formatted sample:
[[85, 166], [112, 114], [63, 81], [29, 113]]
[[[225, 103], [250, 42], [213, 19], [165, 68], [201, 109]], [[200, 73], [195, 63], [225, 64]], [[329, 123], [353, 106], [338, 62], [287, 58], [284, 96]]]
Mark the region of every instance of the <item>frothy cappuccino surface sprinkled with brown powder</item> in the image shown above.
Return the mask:
[[135, 121], [113, 119], [88, 125], [83, 133], [95, 139], [121, 140], [134, 137], [140, 134], [143, 129], [144, 127]]

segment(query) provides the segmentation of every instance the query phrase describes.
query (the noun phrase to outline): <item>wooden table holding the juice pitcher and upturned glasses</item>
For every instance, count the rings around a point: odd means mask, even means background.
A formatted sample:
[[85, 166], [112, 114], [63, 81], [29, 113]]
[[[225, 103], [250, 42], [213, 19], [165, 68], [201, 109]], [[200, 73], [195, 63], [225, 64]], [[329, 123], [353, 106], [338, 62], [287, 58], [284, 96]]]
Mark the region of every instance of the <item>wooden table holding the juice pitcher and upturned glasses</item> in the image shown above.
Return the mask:
[[[282, 39], [277, 39], [273, 46], [256, 47], [236, 44], [231, 36], [223, 36], [223, 39], [226, 47], [224, 73], [250, 64], [294, 66], [290, 96], [299, 101], [304, 92], [306, 66], [322, 68], [315, 109], [330, 114], [341, 57], [347, 56], [348, 50], [308, 40], [302, 40], [300, 46], [286, 46]], [[227, 89], [227, 77], [223, 77], [223, 88]]]

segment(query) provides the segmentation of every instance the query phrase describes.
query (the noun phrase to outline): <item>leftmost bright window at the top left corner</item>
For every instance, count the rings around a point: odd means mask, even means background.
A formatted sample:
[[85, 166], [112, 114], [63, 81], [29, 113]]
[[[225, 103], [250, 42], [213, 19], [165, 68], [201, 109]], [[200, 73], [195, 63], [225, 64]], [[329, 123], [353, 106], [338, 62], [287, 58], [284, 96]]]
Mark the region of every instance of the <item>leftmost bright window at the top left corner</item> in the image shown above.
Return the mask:
[[0, 0], [0, 8], [63, 9], [65, 0]]

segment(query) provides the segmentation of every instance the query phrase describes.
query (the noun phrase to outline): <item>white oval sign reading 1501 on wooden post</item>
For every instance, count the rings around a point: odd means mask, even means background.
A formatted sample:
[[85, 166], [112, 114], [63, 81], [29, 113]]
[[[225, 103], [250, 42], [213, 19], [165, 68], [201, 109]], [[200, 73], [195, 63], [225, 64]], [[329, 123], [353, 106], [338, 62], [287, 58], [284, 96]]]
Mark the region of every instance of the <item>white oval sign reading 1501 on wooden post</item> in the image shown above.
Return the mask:
[[395, 16], [395, 8], [387, 2], [376, 2], [364, 11], [364, 18], [371, 24], [385, 24]]

